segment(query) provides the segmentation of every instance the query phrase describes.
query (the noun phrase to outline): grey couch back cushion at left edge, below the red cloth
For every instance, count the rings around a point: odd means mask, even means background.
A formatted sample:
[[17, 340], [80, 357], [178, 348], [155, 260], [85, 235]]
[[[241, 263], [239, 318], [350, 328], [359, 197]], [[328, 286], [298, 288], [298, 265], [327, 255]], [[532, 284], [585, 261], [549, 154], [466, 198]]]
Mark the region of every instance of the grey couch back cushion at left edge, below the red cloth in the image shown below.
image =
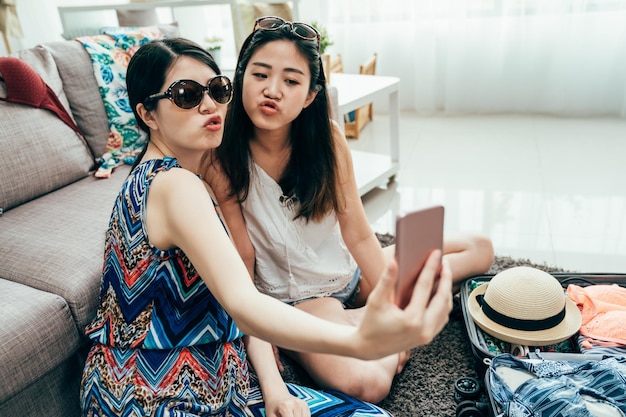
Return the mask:
[[[0, 95], [6, 97], [0, 83]], [[70, 184], [95, 161], [85, 140], [50, 110], [0, 101], [0, 208]]]

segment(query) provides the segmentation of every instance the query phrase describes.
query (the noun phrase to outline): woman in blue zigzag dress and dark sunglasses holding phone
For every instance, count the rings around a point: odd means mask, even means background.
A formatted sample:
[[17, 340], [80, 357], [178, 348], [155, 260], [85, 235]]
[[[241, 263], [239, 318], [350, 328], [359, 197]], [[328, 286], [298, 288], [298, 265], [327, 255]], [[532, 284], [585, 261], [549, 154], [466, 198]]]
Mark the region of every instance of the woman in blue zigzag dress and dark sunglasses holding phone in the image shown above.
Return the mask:
[[[165, 39], [137, 50], [126, 82], [148, 141], [106, 233], [99, 305], [86, 328], [93, 346], [83, 371], [83, 414], [388, 416], [339, 393], [285, 384], [271, 345], [255, 337], [362, 359], [426, 343], [451, 308], [447, 269], [435, 301], [418, 294], [406, 311], [390, 302], [395, 271], [385, 271], [358, 327], [261, 294], [198, 175], [203, 154], [222, 141], [230, 80], [199, 45]], [[421, 293], [437, 290], [438, 260], [430, 259]]]

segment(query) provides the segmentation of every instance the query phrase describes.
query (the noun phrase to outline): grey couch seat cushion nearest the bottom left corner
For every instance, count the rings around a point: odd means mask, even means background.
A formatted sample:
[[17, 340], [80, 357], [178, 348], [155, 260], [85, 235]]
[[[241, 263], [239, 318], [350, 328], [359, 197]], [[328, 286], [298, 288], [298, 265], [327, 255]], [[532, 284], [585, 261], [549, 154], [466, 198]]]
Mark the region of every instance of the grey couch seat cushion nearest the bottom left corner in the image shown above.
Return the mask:
[[81, 344], [70, 309], [55, 294], [0, 279], [0, 403], [73, 356]]

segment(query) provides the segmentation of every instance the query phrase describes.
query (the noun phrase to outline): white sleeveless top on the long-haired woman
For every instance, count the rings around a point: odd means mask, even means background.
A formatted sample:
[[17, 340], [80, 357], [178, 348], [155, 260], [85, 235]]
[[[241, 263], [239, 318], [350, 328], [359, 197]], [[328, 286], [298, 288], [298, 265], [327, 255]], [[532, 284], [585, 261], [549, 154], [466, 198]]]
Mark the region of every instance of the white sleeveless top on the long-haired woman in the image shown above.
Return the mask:
[[337, 216], [322, 222], [293, 220], [297, 202], [251, 163], [248, 198], [242, 203], [256, 253], [255, 284], [284, 302], [326, 297], [344, 289], [357, 265], [341, 237]]

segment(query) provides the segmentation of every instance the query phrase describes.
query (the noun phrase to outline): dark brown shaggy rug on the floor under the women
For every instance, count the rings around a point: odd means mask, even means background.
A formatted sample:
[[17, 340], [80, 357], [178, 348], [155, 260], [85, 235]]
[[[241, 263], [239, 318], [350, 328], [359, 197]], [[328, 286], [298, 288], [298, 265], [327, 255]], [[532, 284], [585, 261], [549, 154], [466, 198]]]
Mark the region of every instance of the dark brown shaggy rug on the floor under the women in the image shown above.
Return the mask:
[[[378, 235], [378, 238], [383, 246], [394, 242], [392, 235]], [[565, 272], [561, 268], [534, 264], [528, 259], [496, 256], [488, 273], [495, 274], [520, 265], [547, 272]], [[285, 381], [316, 387], [299, 365], [284, 355], [282, 361]], [[454, 416], [454, 381], [462, 376], [476, 377], [474, 366], [475, 359], [456, 297], [446, 327], [432, 343], [413, 351], [402, 373], [396, 376], [391, 393], [379, 405], [395, 417]]]

